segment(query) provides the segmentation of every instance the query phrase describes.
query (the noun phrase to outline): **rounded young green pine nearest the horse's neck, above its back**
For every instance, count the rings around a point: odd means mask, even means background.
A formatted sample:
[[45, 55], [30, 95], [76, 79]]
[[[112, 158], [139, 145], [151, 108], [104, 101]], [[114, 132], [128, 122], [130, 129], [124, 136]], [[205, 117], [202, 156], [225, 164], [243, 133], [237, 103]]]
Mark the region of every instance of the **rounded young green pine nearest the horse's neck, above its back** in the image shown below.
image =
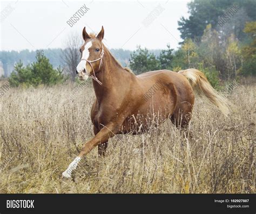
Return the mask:
[[153, 53], [149, 50], [142, 49], [138, 46], [136, 51], [131, 53], [130, 67], [134, 73], [140, 74], [147, 71], [159, 70], [159, 61]]

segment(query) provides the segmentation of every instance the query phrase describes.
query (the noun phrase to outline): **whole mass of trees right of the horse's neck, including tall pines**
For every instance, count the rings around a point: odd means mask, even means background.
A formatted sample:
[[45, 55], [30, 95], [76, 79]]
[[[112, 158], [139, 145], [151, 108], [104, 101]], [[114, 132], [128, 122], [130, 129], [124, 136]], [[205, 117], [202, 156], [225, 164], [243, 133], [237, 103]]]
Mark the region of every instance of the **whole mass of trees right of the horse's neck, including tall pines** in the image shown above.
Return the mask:
[[220, 80], [256, 74], [256, 2], [247, 0], [194, 0], [188, 18], [181, 17], [178, 30], [183, 42], [174, 51], [167, 45], [159, 56], [138, 47], [130, 67], [136, 73], [197, 68], [214, 87]]

